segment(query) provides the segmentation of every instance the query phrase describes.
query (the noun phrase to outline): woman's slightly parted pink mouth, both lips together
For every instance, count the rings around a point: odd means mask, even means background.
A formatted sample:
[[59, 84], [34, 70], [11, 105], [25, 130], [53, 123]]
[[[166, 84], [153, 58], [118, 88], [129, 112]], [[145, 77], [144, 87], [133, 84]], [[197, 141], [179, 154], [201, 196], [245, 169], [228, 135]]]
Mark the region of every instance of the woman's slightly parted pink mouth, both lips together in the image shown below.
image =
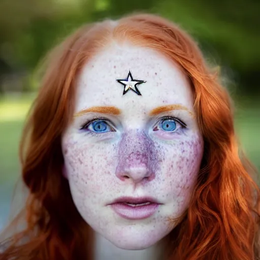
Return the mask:
[[110, 205], [120, 217], [137, 220], [152, 216], [161, 204], [149, 197], [121, 197]]

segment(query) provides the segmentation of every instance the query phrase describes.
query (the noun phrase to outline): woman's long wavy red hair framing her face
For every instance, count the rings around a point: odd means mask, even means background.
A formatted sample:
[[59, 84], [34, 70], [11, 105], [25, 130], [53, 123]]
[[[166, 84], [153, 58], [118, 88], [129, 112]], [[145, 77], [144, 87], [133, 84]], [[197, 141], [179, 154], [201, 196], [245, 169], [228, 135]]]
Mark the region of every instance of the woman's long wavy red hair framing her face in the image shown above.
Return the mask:
[[246, 159], [239, 156], [229, 94], [207, 68], [196, 43], [154, 15], [83, 26], [49, 55], [20, 146], [22, 177], [29, 189], [26, 227], [2, 242], [0, 258], [92, 259], [92, 230], [62, 176], [61, 136], [72, 120], [82, 67], [113, 41], [151, 48], [177, 62], [194, 91], [204, 156], [189, 208], [169, 235], [167, 259], [256, 259], [259, 188]]

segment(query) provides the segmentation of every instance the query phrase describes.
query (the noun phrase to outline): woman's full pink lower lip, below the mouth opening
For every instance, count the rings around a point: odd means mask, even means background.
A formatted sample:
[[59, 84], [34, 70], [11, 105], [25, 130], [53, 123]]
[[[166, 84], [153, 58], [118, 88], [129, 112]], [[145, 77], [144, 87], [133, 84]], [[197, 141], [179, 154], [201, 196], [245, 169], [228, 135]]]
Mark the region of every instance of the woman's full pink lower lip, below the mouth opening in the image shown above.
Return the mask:
[[113, 210], [121, 217], [126, 219], [144, 219], [152, 216], [158, 209], [159, 204], [150, 203], [144, 206], [132, 207], [125, 203], [114, 203], [111, 205]]

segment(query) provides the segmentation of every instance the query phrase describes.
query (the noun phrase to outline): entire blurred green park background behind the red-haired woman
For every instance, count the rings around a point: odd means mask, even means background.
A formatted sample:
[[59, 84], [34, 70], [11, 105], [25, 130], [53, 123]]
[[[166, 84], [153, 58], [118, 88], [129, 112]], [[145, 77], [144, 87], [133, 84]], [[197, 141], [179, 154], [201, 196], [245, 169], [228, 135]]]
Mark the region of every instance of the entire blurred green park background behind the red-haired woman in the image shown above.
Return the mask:
[[1, 0], [0, 230], [20, 174], [18, 145], [35, 97], [35, 70], [46, 52], [75, 28], [145, 11], [177, 22], [220, 67], [235, 101], [241, 146], [260, 169], [260, 1], [257, 0]]

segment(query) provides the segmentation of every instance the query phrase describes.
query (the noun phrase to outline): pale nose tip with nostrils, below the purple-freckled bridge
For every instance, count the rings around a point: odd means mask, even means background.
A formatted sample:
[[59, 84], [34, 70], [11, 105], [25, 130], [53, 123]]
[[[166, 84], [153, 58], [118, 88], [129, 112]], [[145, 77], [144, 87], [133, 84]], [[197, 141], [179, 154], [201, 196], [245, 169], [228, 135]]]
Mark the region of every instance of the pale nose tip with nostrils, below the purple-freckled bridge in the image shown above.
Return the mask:
[[117, 177], [123, 181], [129, 179], [129, 181], [134, 183], [139, 183], [145, 180], [149, 181], [151, 180], [151, 176], [151, 172], [145, 165], [125, 167], [123, 171], [119, 172], [117, 175]]

